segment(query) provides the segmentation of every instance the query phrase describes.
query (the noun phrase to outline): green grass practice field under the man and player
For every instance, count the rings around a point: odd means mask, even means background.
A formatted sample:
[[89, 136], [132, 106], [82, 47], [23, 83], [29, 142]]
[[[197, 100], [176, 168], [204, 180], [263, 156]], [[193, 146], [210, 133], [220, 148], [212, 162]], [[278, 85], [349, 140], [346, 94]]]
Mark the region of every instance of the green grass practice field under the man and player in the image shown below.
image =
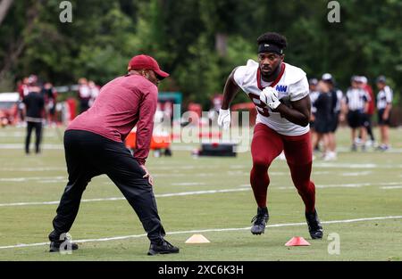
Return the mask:
[[[156, 257], [147, 256], [148, 241], [138, 217], [107, 176], [94, 178], [84, 193], [86, 202], [81, 203], [70, 232], [73, 240], [84, 240], [80, 250], [71, 255], [47, 252], [48, 245], [42, 242], [47, 242], [57, 204], [43, 202], [58, 201], [66, 183], [56, 132], [46, 128], [43, 153], [25, 156], [21, 147], [25, 130], [0, 129], [0, 260], [402, 259], [400, 129], [391, 131], [393, 149], [389, 152], [348, 152], [349, 130], [342, 128], [339, 159], [314, 160], [316, 207], [324, 227], [321, 241], [309, 237], [304, 206], [286, 162], [272, 163], [269, 227], [265, 234], [254, 236], [248, 229], [256, 212], [248, 182], [249, 152], [230, 159], [194, 159], [189, 151], [177, 150], [172, 158], [151, 155], [147, 166], [155, 176], [166, 238], [180, 247], [180, 254]], [[378, 130], [375, 133], [378, 136]], [[328, 252], [331, 233], [339, 234], [339, 255]], [[203, 234], [210, 243], [185, 244], [192, 234]], [[284, 246], [297, 235], [311, 246]], [[34, 245], [15, 247], [19, 244]]]

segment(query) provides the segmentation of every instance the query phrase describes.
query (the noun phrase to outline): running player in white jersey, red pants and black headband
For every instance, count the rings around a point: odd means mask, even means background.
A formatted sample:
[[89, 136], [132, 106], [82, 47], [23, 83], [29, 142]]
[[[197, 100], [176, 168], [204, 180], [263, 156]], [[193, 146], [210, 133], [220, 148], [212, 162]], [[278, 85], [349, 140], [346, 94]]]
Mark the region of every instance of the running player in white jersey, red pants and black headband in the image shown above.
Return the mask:
[[218, 124], [230, 126], [230, 103], [239, 89], [255, 104], [256, 125], [251, 154], [250, 184], [258, 209], [252, 219], [252, 234], [264, 234], [269, 218], [268, 168], [282, 151], [290, 168], [293, 184], [306, 205], [306, 221], [313, 239], [322, 238], [322, 225], [315, 209], [315, 186], [310, 180], [312, 145], [309, 132], [311, 103], [306, 73], [283, 62], [285, 37], [265, 33], [257, 39], [258, 62], [234, 69], [223, 90]]

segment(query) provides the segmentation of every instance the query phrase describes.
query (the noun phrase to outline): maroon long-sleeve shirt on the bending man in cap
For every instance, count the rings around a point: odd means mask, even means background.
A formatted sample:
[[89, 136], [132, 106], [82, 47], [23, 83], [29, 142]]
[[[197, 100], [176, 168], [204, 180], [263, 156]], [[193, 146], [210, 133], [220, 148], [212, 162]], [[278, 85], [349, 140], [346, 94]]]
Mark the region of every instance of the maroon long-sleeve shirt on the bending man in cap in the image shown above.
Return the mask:
[[123, 142], [137, 125], [134, 158], [144, 165], [149, 153], [158, 89], [147, 78], [127, 75], [102, 87], [88, 111], [74, 119], [67, 130], [84, 130]]

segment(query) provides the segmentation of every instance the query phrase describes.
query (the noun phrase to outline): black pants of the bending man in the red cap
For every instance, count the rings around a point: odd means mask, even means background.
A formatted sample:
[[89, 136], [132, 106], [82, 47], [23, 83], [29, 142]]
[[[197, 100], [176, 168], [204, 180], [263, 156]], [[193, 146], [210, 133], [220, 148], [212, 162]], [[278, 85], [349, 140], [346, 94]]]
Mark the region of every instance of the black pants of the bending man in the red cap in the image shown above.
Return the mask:
[[65, 159], [69, 182], [65, 187], [51, 241], [58, 241], [60, 234], [70, 231], [80, 208], [80, 200], [88, 182], [94, 176], [106, 174], [119, 187], [137, 213], [151, 242], [159, 242], [165, 235], [156, 208], [152, 185], [144, 169], [122, 143], [87, 131], [68, 130], [64, 134]]

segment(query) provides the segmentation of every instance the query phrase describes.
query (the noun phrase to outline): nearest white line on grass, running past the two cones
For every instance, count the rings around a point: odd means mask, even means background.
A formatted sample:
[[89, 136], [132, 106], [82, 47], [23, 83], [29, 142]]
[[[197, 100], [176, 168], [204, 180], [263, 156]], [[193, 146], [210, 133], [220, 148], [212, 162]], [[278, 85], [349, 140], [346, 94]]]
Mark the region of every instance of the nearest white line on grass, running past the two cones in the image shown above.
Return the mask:
[[[365, 218], [356, 218], [356, 219], [346, 219], [346, 220], [332, 220], [332, 221], [322, 221], [322, 224], [342, 224], [342, 223], [355, 223], [355, 222], [364, 222], [364, 221], [374, 221], [374, 220], [385, 220], [385, 219], [401, 219], [402, 216], [386, 216], [386, 217], [365, 217]], [[285, 224], [273, 224], [267, 225], [266, 227], [283, 227], [283, 226], [306, 226], [306, 223], [285, 223]], [[249, 230], [250, 226], [247, 227], [232, 227], [232, 228], [213, 228], [213, 229], [200, 229], [200, 230], [190, 230], [190, 231], [177, 231], [166, 233], [168, 235], [173, 234], [200, 234], [200, 233], [212, 233], [212, 232], [232, 232], [232, 231], [245, 231]], [[132, 235], [123, 235], [123, 236], [113, 236], [113, 237], [105, 237], [105, 238], [93, 238], [93, 239], [82, 239], [73, 242], [84, 243], [84, 242], [109, 242], [116, 240], [126, 240], [131, 238], [139, 238], [146, 237], [147, 234], [132, 234]], [[11, 248], [24, 248], [24, 247], [34, 247], [34, 246], [44, 246], [49, 245], [50, 242], [38, 242], [38, 243], [20, 243], [16, 245], [8, 245], [8, 246], [0, 246], [0, 250], [2, 249], [11, 249]]]

